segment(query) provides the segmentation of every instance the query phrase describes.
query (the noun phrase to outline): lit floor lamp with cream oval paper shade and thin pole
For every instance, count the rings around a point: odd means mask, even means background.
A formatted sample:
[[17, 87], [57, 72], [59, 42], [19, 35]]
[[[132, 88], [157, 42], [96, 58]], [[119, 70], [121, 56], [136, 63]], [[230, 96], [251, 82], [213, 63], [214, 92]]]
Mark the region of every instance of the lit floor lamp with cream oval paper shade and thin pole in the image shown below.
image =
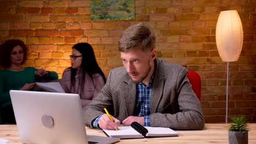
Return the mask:
[[243, 27], [236, 10], [219, 14], [216, 26], [216, 44], [220, 58], [226, 65], [226, 123], [228, 123], [229, 62], [238, 60], [243, 45]]

